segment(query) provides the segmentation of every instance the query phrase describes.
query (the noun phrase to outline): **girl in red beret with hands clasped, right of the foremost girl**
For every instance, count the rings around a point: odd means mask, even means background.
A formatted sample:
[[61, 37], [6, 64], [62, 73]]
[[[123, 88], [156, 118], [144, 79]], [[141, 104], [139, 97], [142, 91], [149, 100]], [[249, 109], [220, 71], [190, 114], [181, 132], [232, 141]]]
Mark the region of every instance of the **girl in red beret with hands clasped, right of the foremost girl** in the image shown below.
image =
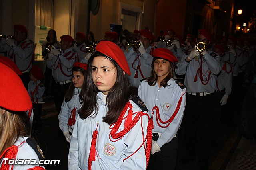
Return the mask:
[[138, 95], [149, 109], [152, 123], [152, 147], [148, 170], [174, 170], [178, 153], [177, 131], [183, 118], [186, 87], [174, 80], [178, 59], [166, 48], [154, 49], [153, 74], [143, 80]]

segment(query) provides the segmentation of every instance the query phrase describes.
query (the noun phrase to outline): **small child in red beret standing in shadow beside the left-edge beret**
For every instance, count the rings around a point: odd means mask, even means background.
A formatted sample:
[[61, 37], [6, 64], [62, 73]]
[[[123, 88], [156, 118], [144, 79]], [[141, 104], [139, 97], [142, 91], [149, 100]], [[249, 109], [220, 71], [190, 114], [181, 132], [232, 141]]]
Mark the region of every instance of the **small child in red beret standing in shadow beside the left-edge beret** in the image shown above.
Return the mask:
[[30, 82], [28, 83], [28, 94], [32, 100], [34, 111], [34, 125], [33, 129], [36, 133], [42, 130], [41, 110], [44, 95], [44, 84], [40, 80], [43, 79], [43, 71], [39, 66], [32, 66], [30, 70]]

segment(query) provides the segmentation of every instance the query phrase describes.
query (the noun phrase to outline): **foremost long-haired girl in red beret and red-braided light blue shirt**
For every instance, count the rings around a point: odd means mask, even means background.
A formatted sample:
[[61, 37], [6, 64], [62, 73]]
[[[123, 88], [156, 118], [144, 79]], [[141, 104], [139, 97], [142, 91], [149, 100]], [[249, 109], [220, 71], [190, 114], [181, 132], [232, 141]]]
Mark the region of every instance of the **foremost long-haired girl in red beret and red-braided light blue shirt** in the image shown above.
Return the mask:
[[124, 53], [101, 41], [88, 61], [86, 88], [74, 125], [69, 170], [145, 170], [151, 126], [144, 103], [133, 96]]

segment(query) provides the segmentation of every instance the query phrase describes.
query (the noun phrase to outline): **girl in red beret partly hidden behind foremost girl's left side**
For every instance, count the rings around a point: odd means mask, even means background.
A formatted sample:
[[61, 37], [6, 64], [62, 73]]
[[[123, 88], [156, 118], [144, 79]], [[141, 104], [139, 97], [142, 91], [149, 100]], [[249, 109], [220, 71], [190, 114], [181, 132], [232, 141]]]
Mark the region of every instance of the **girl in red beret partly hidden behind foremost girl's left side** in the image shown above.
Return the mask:
[[70, 145], [71, 134], [76, 122], [78, 110], [81, 107], [83, 96], [81, 90], [86, 83], [87, 64], [76, 62], [72, 71], [72, 83], [70, 84], [66, 96], [58, 115], [59, 126], [67, 142]]

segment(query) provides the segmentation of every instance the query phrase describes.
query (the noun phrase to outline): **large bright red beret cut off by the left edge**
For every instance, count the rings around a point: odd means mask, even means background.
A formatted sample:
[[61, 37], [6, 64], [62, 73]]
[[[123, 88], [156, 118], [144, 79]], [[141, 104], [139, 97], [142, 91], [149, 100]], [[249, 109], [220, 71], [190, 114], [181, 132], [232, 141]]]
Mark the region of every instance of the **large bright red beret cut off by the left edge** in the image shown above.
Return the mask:
[[10, 111], [27, 111], [32, 102], [19, 76], [0, 63], [0, 107]]

